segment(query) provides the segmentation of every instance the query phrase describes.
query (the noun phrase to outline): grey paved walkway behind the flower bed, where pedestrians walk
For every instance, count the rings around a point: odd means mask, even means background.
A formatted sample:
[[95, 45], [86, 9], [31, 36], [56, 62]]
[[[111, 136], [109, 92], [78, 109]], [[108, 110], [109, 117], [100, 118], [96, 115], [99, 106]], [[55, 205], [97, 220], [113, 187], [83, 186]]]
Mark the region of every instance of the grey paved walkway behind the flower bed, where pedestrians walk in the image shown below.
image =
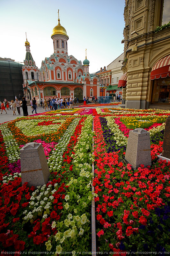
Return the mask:
[[[110, 106], [95, 106], [94, 107], [88, 107], [88, 105], [85, 106], [85, 108], [118, 108], [118, 107], [125, 107], [125, 105], [110, 105]], [[73, 105], [73, 108], [74, 108], [74, 105]], [[81, 107], [82, 108], [82, 107]], [[7, 114], [5, 113], [5, 111], [3, 110], [2, 112], [2, 116], [0, 115], [0, 124], [4, 123], [4, 122], [8, 122], [8, 121], [11, 121], [11, 120], [14, 120], [16, 119], [17, 117], [21, 117], [23, 116], [23, 111], [22, 111], [22, 108], [20, 108], [20, 111], [21, 111], [21, 115], [18, 115], [18, 112], [17, 110], [15, 111], [16, 115], [13, 116], [13, 111], [12, 110], [7, 110]], [[28, 106], [28, 115], [29, 116], [32, 116], [33, 114], [31, 113], [32, 111], [32, 108], [30, 106]], [[45, 112], [44, 108], [40, 108], [38, 107], [37, 108], [37, 113], [43, 113]], [[46, 111], [47, 112], [47, 111]], [[35, 114], [35, 110], [34, 110], [34, 114]]]

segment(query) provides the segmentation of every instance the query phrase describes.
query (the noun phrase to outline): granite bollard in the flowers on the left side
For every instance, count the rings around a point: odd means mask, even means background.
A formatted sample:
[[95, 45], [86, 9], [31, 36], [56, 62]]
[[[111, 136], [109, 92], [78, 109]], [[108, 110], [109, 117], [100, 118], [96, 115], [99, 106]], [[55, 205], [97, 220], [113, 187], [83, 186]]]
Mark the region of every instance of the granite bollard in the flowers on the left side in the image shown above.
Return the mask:
[[20, 149], [22, 185], [43, 186], [49, 178], [49, 168], [41, 143], [30, 142]]

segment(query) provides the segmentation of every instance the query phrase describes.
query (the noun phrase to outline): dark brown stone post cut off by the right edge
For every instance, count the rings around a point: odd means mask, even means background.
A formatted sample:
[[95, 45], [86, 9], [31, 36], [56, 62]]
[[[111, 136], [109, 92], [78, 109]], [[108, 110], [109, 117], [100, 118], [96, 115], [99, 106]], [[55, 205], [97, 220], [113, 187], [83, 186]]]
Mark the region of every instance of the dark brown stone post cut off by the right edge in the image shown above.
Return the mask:
[[162, 156], [170, 158], [170, 116], [166, 118]]

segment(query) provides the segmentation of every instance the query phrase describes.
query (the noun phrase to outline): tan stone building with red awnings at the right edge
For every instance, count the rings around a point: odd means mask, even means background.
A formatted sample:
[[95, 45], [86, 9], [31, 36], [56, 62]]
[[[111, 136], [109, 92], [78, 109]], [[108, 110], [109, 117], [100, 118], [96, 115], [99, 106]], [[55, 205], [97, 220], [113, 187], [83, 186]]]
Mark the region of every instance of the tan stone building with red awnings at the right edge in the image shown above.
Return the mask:
[[123, 76], [126, 108], [170, 109], [169, 0], [125, 0]]

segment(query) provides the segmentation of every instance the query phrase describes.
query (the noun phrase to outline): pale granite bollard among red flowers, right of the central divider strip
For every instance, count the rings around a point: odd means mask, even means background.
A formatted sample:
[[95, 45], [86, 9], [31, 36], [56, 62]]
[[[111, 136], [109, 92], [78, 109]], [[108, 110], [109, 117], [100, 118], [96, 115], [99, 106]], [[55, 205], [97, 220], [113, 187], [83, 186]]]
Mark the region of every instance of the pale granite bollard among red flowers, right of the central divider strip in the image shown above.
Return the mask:
[[142, 128], [129, 131], [128, 144], [125, 159], [137, 169], [144, 164], [144, 167], [151, 165], [151, 144], [150, 133]]

